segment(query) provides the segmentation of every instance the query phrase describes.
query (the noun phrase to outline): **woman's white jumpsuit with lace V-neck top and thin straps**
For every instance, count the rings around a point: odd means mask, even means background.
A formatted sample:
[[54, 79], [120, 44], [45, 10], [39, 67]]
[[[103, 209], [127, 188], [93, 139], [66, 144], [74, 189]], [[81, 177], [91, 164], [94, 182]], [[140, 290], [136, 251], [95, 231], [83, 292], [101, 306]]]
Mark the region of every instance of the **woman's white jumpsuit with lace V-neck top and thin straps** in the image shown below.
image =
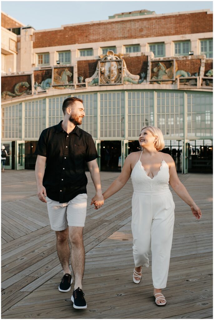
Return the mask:
[[140, 158], [131, 172], [134, 188], [131, 230], [135, 267], [149, 266], [148, 253], [151, 248], [152, 279], [156, 289], [166, 287], [170, 263], [175, 204], [169, 179], [169, 167], [164, 160], [153, 178], [147, 176]]

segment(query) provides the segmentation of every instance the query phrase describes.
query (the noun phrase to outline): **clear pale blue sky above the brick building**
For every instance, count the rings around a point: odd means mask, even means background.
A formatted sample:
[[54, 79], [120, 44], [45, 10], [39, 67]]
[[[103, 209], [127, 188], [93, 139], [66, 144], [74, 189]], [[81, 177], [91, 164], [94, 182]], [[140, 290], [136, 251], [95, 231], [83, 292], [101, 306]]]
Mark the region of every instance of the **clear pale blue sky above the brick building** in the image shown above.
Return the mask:
[[36, 30], [108, 20], [115, 13], [147, 9], [155, 13], [200, 9], [213, 11], [212, 1], [1, 1], [1, 10]]

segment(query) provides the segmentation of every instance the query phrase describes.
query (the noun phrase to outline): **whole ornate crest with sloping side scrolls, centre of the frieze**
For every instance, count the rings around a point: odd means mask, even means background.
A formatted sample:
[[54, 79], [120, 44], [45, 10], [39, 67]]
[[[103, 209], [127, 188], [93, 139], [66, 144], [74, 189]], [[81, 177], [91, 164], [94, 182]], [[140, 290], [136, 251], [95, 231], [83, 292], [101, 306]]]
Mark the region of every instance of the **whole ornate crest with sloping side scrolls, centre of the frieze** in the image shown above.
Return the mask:
[[109, 50], [106, 55], [100, 56], [101, 60], [93, 76], [86, 78], [88, 86], [115, 85], [115, 84], [140, 84], [144, 81], [145, 73], [132, 75], [127, 69], [123, 54], [115, 54]]

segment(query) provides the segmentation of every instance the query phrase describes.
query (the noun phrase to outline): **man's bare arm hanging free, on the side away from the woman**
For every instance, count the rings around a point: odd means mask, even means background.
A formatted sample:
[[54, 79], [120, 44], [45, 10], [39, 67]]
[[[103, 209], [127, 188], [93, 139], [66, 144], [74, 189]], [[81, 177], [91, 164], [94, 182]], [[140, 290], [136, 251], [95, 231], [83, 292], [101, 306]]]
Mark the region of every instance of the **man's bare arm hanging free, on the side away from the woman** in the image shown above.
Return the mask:
[[42, 183], [43, 183], [46, 159], [47, 159], [46, 157], [38, 155], [36, 159], [36, 166], [35, 166], [37, 196], [39, 200], [45, 203], [47, 202], [45, 199], [45, 196], [47, 195], [46, 195], [46, 190]]

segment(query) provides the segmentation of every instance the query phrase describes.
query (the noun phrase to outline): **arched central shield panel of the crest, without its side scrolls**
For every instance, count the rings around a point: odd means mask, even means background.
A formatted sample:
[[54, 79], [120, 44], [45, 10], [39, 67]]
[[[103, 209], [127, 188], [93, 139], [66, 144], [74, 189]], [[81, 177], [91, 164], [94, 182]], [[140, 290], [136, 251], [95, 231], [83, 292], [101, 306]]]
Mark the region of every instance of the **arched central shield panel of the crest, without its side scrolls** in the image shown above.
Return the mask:
[[99, 61], [99, 85], [123, 83], [123, 60], [113, 51]]

